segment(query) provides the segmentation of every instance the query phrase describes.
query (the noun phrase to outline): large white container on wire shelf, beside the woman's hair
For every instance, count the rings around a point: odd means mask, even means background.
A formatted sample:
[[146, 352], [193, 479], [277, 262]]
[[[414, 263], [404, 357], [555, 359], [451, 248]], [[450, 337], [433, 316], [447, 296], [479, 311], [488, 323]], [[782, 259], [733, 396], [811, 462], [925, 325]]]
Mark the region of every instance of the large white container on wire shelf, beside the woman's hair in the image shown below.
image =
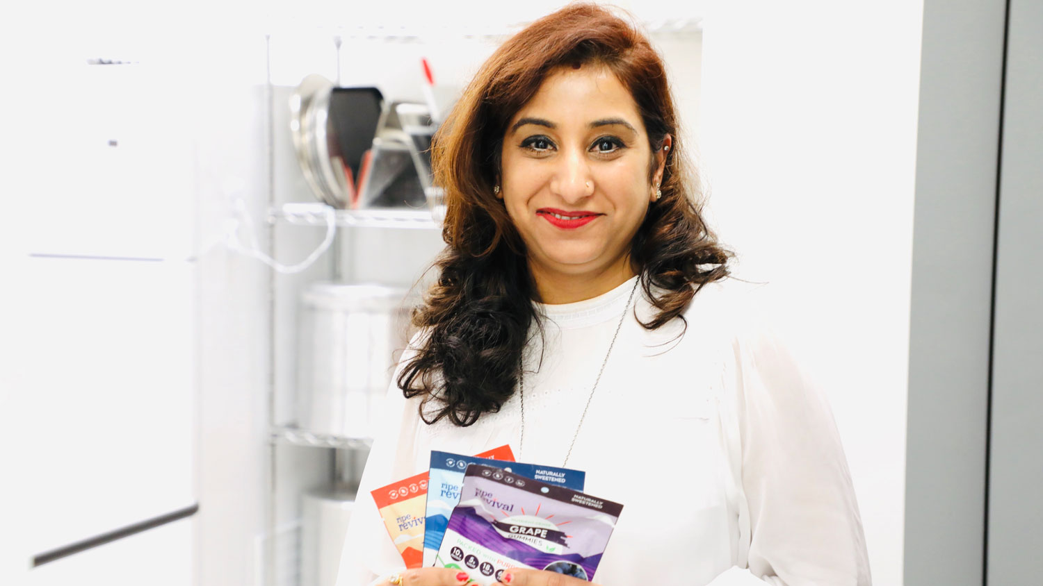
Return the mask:
[[317, 282], [298, 313], [297, 426], [372, 437], [372, 422], [408, 342], [407, 290]]

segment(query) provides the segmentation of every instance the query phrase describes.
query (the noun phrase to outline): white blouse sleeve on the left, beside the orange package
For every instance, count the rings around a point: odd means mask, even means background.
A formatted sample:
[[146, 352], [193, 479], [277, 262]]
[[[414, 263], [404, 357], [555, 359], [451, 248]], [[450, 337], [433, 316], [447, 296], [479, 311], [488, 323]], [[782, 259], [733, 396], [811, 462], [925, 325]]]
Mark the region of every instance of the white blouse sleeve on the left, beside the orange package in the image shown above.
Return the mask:
[[415, 353], [419, 334], [403, 353], [385, 397], [377, 436], [373, 438], [359, 493], [351, 510], [336, 586], [363, 586], [405, 569], [391, 542], [370, 491], [417, 474], [413, 461], [414, 431], [419, 424], [416, 402], [407, 400], [395, 381], [406, 361]]

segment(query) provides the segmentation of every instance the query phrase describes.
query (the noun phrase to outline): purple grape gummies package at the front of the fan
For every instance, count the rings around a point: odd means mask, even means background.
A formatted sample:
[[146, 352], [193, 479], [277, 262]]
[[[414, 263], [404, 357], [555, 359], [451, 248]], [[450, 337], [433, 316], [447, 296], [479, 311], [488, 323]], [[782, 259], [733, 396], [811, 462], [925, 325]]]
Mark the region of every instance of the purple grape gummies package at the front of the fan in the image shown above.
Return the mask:
[[471, 464], [436, 565], [462, 569], [483, 586], [508, 567], [590, 581], [622, 511], [578, 490]]

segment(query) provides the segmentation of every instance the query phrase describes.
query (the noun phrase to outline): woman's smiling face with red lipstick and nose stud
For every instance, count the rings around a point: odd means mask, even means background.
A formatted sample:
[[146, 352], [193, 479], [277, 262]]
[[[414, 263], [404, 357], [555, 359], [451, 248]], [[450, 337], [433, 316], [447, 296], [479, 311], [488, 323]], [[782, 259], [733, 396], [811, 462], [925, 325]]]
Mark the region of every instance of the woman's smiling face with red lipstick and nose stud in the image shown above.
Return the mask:
[[[666, 137], [665, 145], [670, 145]], [[630, 92], [603, 67], [561, 68], [504, 135], [500, 194], [540, 277], [631, 275], [630, 243], [662, 177]]]

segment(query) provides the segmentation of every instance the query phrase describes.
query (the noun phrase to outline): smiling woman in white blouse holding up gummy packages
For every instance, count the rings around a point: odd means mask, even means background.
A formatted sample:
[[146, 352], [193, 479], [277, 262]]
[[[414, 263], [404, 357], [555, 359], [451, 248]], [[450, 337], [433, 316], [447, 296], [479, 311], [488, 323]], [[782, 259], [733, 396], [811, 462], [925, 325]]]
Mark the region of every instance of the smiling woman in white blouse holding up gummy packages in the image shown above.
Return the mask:
[[829, 406], [729, 278], [678, 131], [659, 56], [598, 6], [533, 23], [479, 71], [436, 136], [447, 246], [338, 586], [465, 583], [403, 570], [369, 490], [432, 450], [502, 444], [624, 505], [599, 584], [870, 583]]

